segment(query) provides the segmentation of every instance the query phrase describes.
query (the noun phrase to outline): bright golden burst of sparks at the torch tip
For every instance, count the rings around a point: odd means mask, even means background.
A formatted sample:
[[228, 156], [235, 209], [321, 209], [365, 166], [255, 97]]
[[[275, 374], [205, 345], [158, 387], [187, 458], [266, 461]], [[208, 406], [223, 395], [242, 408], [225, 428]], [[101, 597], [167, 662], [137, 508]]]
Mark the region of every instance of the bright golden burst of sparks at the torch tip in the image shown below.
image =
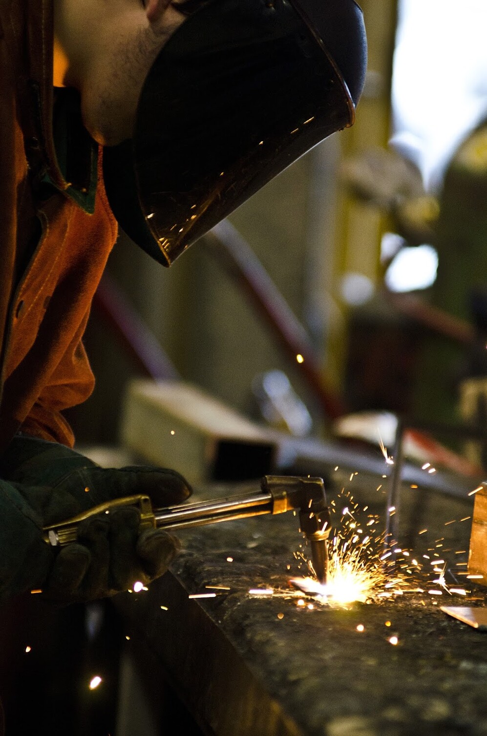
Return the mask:
[[[394, 512], [394, 506], [388, 511]], [[303, 613], [319, 609], [321, 606], [347, 607], [355, 602], [391, 601], [412, 593], [422, 595], [419, 602], [423, 606], [428, 599], [433, 606], [438, 605], [438, 598], [441, 596], [457, 595], [462, 597], [463, 601], [480, 600], [469, 598], [475, 591], [461, 587], [459, 576], [464, 576], [469, 581], [476, 581], [475, 578], [482, 576], [469, 574], [464, 569], [467, 562], [449, 562], [449, 557], [446, 556], [447, 553], [454, 553], [455, 556], [466, 555], [466, 549], [456, 551], [445, 549], [444, 537], [436, 539], [433, 545], [427, 537], [422, 537], [428, 531], [427, 528], [418, 531], [419, 539], [427, 543], [429, 541], [432, 545], [427, 548], [425, 545], [424, 550], [402, 548], [394, 539], [388, 539], [385, 544], [383, 519], [377, 514], [371, 514], [369, 506], [360, 508], [352, 494], [345, 489], [342, 489], [336, 500], [330, 500], [330, 512], [335, 514], [335, 524], [332, 525], [328, 542], [330, 565], [327, 584], [322, 585], [316, 579], [303, 539], [299, 550], [294, 553], [303, 576], [289, 581], [294, 590], [289, 587], [267, 587], [264, 581], [259, 581], [258, 587], [252, 587], [247, 591], [249, 596], [279, 597], [286, 600], [294, 598], [295, 605]], [[470, 517], [453, 519], [447, 521], [445, 526], [463, 523], [469, 519]], [[227, 562], [233, 562], [233, 557], [227, 557]], [[291, 569], [291, 565], [286, 567], [288, 570]], [[191, 594], [189, 597], [216, 598], [217, 595], [228, 595], [232, 590], [229, 585], [221, 584], [219, 581], [205, 587], [215, 592], [201, 592]], [[309, 602], [311, 596], [313, 603]], [[166, 606], [160, 607], [167, 610]], [[282, 620], [284, 614], [279, 613], [277, 618]], [[391, 621], [387, 620], [385, 626], [391, 626]], [[397, 637], [391, 637], [389, 642], [396, 645]]]

